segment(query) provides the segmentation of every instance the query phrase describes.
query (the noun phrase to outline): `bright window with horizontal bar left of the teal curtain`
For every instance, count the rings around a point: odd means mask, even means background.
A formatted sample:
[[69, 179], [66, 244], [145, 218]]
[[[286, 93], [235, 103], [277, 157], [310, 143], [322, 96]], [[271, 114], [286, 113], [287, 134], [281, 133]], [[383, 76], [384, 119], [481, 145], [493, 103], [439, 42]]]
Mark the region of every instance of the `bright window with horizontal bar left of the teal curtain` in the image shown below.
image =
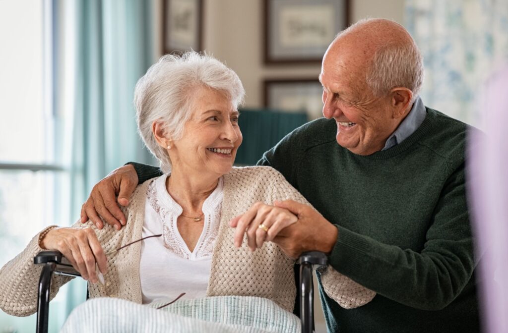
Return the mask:
[[[71, 216], [64, 141], [55, 139], [66, 114], [54, 112], [54, 4], [0, 1], [0, 267], [42, 228], [69, 224]], [[68, 312], [68, 290], [62, 291], [51, 302], [50, 331], [58, 330]], [[0, 311], [3, 332], [34, 331], [35, 322], [35, 315], [16, 318]]]

